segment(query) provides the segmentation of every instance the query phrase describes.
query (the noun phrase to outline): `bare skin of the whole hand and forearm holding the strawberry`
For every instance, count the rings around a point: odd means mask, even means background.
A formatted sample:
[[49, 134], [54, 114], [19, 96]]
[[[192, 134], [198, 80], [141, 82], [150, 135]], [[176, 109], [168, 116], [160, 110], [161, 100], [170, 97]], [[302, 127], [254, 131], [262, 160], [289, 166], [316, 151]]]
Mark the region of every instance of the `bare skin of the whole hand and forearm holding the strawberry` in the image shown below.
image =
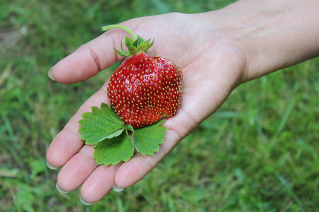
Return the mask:
[[[167, 136], [154, 156], [135, 154], [128, 162], [97, 166], [93, 146], [77, 132], [79, 119], [91, 106], [108, 103], [108, 81], [86, 100], [47, 149], [47, 162], [62, 167], [57, 183], [65, 191], [82, 185], [82, 198], [99, 201], [113, 184], [130, 187], [191, 133], [242, 83], [319, 55], [319, 1], [242, 0], [218, 11], [169, 13], [125, 21], [136, 35], [153, 37], [150, 53], [181, 67], [184, 93], [181, 109], [164, 122]], [[169, 24], [168, 24], [169, 23]], [[85, 81], [123, 58], [125, 31], [112, 29], [59, 61], [49, 76], [59, 83]]]

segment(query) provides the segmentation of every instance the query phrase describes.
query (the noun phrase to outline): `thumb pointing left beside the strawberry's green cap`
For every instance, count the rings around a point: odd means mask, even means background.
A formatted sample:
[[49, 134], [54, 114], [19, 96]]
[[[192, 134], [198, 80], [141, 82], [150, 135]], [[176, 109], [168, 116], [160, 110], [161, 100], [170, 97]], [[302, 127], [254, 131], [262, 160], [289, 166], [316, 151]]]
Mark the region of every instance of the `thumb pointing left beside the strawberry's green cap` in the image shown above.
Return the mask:
[[120, 60], [113, 47], [118, 49], [125, 32], [114, 29], [82, 45], [59, 61], [49, 71], [49, 76], [59, 83], [78, 83], [95, 76]]

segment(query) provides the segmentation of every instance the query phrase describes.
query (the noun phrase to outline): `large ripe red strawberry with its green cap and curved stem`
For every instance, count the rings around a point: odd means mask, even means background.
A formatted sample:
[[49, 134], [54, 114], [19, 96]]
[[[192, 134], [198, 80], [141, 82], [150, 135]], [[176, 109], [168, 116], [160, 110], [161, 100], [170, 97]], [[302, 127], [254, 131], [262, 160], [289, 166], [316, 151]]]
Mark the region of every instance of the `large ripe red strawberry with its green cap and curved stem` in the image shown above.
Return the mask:
[[132, 37], [125, 37], [127, 51], [116, 52], [125, 57], [108, 83], [107, 95], [111, 107], [124, 124], [135, 129], [172, 117], [181, 106], [182, 73], [173, 61], [147, 54], [153, 42], [136, 37], [121, 25], [109, 25], [103, 30], [122, 28]]

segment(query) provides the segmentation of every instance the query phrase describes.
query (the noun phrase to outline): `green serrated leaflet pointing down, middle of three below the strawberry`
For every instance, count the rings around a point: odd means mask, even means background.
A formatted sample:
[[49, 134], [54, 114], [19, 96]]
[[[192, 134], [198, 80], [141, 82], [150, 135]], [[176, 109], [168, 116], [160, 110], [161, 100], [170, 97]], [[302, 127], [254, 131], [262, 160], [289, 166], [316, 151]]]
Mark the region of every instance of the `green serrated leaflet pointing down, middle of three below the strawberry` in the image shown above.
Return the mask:
[[105, 139], [94, 146], [94, 159], [98, 165], [116, 165], [121, 161], [128, 161], [133, 153], [133, 143], [125, 131], [120, 136]]

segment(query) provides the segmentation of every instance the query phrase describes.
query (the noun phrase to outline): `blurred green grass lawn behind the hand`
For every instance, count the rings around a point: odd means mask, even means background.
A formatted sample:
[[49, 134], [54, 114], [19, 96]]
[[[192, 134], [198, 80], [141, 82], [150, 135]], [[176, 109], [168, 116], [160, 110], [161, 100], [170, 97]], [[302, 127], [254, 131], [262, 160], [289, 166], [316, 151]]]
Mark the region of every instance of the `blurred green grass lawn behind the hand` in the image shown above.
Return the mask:
[[50, 66], [101, 26], [222, 0], [0, 1], [0, 211], [316, 211], [319, 59], [237, 88], [145, 179], [91, 206], [60, 194], [45, 151], [113, 68], [60, 85]]

